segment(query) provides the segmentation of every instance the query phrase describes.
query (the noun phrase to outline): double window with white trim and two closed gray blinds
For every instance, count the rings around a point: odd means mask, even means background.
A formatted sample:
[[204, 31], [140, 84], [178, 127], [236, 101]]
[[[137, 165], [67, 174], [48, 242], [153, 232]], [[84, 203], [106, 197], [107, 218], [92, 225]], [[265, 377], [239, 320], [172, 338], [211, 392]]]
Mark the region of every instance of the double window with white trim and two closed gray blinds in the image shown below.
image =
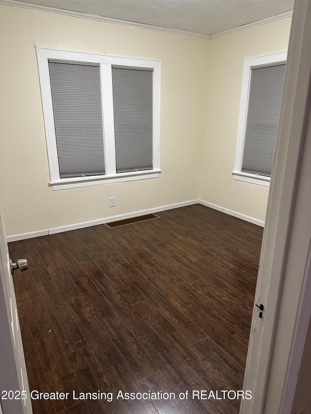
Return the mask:
[[159, 176], [159, 61], [37, 57], [53, 189]]

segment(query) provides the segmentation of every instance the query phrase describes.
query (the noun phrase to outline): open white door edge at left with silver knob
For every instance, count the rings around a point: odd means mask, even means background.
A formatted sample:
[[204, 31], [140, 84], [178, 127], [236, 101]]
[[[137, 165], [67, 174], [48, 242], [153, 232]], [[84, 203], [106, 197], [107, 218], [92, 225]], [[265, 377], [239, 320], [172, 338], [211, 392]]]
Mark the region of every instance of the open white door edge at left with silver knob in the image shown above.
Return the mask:
[[0, 206], [0, 413], [31, 414], [32, 412], [9, 251]]

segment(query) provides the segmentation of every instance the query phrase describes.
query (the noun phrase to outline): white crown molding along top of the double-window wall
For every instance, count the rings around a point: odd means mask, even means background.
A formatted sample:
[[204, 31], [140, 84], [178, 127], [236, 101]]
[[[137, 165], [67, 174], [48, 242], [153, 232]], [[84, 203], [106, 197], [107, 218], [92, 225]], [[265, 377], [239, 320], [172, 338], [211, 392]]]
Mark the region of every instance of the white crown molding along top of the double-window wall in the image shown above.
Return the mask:
[[131, 26], [131, 27], [137, 27], [137, 28], [140, 28], [140, 29], [154, 30], [156, 32], [183, 34], [183, 35], [186, 35], [186, 36], [200, 37], [202, 39], [208, 39], [208, 40], [209, 40], [209, 37], [210, 37], [208, 34], [187, 32], [185, 30], [170, 29], [168, 27], [154, 26], [154, 25], [145, 24], [145, 23], [137, 23], [137, 22], [134, 22], [134, 21], [121, 20], [121, 19], [117, 19], [117, 18], [113, 18], [113, 17], [103, 17], [103, 16], [98, 16], [98, 15], [91, 15], [91, 14], [87, 14], [87, 13], [75, 12], [75, 11], [72, 11], [72, 10], [65, 10], [65, 9], [58, 9], [56, 7], [43, 6], [43, 5], [40, 5], [40, 4], [27, 3], [27, 2], [24, 2], [24, 1], [18, 1], [18, 0], [0, 0], [0, 4], [5, 4], [7, 6], [23, 7], [24, 9], [38, 10], [38, 11], [41, 11], [41, 12], [56, 13], [56, 14], [59, 14], [59, 15], [65, 15], [65, 16], [71, 16], [71, 17], [86, 18], [86, 19], [89, 19], [89, 20], [103, 21], [105, 23], [121, 24], [123, 26]]

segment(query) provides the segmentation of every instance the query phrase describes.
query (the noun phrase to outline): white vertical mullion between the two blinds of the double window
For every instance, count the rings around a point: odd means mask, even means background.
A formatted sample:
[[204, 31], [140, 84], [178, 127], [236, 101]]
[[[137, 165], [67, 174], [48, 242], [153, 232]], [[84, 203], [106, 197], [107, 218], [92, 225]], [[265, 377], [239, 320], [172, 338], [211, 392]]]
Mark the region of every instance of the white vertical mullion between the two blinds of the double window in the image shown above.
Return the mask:
[[106, 175], [109, 176], [116, 174], [116, 147], [111, 65], [101, 64], [101, 83]]

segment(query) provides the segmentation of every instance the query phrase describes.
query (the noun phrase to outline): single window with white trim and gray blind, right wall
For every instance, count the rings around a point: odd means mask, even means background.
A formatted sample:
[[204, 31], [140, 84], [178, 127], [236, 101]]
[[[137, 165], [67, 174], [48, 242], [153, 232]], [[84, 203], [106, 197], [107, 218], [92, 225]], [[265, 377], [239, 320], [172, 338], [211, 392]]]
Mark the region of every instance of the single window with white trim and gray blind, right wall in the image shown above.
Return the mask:
[[244, 60], [234, 178], [269, 185], [286, 52]]

